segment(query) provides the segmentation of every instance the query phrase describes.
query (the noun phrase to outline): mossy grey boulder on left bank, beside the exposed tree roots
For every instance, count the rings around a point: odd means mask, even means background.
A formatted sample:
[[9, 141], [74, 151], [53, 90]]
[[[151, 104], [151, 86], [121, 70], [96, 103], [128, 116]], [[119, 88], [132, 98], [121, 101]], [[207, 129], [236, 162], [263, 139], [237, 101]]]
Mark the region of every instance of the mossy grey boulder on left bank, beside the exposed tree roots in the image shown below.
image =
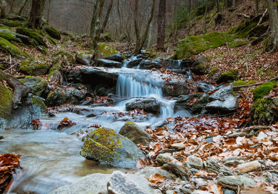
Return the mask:
[[40, 76], [26, 76], [24, 79], [19, 79], [19, 81], [28, 86], [30, 92], [37, 96], [41, 96], [44, 90], [47, 89], [47, 81]]

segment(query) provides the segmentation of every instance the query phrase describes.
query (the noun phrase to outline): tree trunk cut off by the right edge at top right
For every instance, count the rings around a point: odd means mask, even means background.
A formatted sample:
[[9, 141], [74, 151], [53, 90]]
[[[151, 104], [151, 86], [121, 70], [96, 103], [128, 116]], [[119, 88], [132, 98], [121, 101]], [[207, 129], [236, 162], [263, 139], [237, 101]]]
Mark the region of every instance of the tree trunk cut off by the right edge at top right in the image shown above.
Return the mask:
[[270, 35], [268, 45], [265, 48], [268, 53], [276, 51], [278, 48], [278, 11], [277, 0], [267, 0], [268, 14], [270, 17]]

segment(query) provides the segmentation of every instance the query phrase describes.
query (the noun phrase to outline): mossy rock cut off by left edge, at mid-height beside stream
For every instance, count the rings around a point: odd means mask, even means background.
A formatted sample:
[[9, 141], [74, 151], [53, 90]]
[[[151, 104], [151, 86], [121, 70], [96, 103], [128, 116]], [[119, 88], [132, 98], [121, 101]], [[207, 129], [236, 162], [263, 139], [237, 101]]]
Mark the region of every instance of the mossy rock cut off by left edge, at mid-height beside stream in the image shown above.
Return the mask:
[[10, 118], [13, 110], [13, 93], [0, 83], [0, 118]]

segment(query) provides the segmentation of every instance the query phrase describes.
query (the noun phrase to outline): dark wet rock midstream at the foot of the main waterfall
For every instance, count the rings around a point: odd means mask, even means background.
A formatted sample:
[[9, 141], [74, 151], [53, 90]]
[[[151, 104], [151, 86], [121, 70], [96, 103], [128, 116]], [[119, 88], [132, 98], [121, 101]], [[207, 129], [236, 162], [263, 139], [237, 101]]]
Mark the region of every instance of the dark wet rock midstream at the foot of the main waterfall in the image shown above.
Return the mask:
[[158, 115], [160, 113], [161, 105], [156, 99], [143, 99], [138, 102], [126, 103], [126, 111], [132, 111], [136, 108], [144, 110], [147, 113], [154, 113]]

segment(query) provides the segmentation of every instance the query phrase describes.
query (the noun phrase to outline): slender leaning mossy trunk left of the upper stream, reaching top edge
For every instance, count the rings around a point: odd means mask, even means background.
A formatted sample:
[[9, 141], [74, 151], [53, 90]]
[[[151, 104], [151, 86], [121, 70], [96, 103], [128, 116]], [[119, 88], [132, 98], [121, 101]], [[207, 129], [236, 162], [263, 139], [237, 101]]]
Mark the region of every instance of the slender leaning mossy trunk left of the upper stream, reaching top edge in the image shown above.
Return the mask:
[[92, 38], [92, 49], [94, 50], [94, 60], [99, 57], [99, 39], [101, 34], [100, 19], [104, 8], [105, 0], [99, 0], [95, 4], [94, 14], [92, 16], [90, 35]]

